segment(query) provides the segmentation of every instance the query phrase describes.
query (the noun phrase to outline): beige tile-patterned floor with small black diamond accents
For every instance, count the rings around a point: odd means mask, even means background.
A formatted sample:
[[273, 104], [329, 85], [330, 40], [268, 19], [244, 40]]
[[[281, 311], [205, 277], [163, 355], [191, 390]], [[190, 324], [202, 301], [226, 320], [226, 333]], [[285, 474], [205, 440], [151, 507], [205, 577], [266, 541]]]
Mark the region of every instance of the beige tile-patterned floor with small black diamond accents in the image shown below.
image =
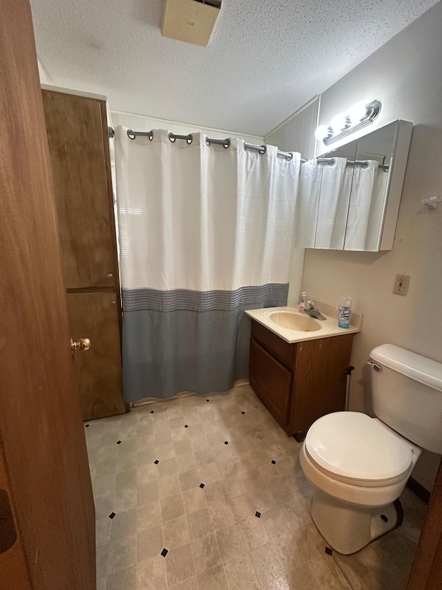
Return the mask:
[[[249, 386], [146, 405], [91, 421], [85, 432], [98, 590], [382, 587], [375, 544], [343, 560], [325, 553], [300, 445]], [[413, 549], [418, 521], [395, 532], [398, 551]]]

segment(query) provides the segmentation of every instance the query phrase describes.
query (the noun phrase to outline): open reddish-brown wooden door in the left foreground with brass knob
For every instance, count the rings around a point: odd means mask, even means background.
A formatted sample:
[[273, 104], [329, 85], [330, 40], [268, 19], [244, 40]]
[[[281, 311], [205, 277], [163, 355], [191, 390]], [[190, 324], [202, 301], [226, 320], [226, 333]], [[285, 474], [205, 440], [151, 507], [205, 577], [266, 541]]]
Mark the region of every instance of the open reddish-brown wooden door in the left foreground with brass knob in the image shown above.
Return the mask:
[[0, 9], [0, 588], [93, 590], [93, 495], [32, 17], [28, 0]]

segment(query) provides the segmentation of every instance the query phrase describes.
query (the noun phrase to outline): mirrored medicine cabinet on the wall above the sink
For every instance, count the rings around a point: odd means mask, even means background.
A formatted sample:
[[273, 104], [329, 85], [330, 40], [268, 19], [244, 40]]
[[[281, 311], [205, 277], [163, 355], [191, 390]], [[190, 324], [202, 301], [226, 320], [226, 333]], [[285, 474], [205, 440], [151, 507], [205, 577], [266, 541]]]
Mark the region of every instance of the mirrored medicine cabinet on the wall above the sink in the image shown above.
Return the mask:
[[392, 249], [412, 127], [396, 120], [302, 164], [298, 248]]

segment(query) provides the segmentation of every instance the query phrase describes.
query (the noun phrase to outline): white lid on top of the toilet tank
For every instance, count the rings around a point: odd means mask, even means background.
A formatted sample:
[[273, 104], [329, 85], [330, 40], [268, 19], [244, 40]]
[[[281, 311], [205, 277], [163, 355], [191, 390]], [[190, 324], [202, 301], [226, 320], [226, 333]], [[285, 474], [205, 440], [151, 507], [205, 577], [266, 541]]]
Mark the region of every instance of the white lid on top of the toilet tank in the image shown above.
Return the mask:
[[396, 347], [394, 344], [381, 344], [370, 353], [370, 358], [378, 365], [388, 367], [396, 373], [423, 383], [427, 387], [442, 391], [442, 363], [431, 360], [415, 352]]

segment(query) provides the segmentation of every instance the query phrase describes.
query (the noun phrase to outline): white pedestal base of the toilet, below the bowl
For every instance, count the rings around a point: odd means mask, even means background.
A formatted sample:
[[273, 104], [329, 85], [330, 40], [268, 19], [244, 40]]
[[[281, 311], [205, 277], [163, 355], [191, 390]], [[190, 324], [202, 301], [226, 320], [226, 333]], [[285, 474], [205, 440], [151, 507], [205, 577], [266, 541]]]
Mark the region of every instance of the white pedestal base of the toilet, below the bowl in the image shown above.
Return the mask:
[[397, 499], [387, 506], [366, 508], [345, 504], [320, 490], [311, 501], [311, 518], [327, 543], [338, 553], [356, 553], [365, 545], [401, 526], [403, 515]]

